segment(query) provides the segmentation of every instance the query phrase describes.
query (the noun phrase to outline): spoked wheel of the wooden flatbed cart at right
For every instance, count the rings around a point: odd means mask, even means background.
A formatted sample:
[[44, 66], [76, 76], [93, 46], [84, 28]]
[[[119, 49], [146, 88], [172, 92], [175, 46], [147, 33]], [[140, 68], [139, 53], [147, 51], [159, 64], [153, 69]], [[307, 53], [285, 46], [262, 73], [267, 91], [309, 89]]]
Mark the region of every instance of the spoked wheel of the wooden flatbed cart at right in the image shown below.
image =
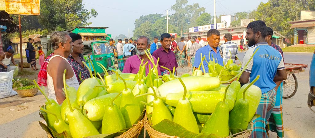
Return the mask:
[[283, 95], [284, 99], [291, 98], [297, 91], [297, 79], [294, 74], [288, 74], [286, 80], [283, 81]]

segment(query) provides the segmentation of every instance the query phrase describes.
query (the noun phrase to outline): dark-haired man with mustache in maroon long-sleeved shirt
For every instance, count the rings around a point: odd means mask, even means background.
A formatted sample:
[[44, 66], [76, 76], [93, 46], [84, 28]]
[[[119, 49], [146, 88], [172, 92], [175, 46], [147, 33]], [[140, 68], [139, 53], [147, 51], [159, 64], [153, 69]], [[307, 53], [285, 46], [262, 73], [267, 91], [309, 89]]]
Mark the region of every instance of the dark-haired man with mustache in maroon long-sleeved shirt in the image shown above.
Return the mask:
[[173, 68], [175, 67], [175, 74], [176, 68], [178, 67], [175, 54], [169, 48], [171, 46], [171, 35], [169, 33], [164, 33], [161, 35], [161, 45], [162, 47], [158, 48], [156, 51], [153, 52], [152, 56], [155, 58], [160, 58], [158, 65], [161, 69], [161, 74], [171, 74], [167, 69], [161, 68], [161, 66], [169, 68], [173, 72]]

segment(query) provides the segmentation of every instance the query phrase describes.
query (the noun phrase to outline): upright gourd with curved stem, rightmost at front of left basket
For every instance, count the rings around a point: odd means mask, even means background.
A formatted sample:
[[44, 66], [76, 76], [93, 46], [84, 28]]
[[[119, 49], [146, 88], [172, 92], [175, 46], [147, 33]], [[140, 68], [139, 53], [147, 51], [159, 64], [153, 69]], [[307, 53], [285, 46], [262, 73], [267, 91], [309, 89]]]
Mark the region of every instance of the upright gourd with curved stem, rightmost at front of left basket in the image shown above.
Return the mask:
[[120, 111], [125, 119], [126, 127], [129, 128], [137, 123], [141, 115], [140, 106], [131, 89], [127, 88], [126, 81], [121, 76], [118, 75], [118, 77], [123, 80], [125, 86], [125, 89], [122, 91]]

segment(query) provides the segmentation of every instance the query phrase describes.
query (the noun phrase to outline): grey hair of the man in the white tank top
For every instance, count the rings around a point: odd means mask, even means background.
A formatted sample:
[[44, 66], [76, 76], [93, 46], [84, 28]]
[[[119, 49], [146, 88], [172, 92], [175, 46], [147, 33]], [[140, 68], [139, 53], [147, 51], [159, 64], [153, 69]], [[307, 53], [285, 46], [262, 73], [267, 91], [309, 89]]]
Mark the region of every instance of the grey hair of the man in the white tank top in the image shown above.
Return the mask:
[[66, 31], [55, 31], [55, 32], [50, 34], [50, 41], [51, 41], [51, 45], [53, 46], [54, 50], [59, 48], [60, 42], [63, 42], [63, 43], [67, 42], [66, 35], [68, 35], [68, 34], [69, 33]]

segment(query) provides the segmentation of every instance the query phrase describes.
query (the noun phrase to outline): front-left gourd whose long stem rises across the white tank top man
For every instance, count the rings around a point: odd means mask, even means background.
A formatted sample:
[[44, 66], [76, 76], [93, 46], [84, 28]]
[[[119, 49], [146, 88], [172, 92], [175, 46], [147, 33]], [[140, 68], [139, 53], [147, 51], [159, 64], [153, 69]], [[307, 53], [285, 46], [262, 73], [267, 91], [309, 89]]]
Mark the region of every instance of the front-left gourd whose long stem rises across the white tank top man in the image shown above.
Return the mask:
[[[66, 69], [63, 74], [63, 82], [64, 88], [66, 88]], [[92, 135], [100, 134], [98, 130], [94, 127], [94, 125], [90, 122], [89, 119], [85, 118], [83, 114], [76, 110], [72, 109], [71, 102], [65, 89], [66, 97], [68, 99], [68, 105], [70, 108], [70, 112], [67, 114], [67, 118], [69, 121], [69, 128], [73, 138], [82, 138]]]

